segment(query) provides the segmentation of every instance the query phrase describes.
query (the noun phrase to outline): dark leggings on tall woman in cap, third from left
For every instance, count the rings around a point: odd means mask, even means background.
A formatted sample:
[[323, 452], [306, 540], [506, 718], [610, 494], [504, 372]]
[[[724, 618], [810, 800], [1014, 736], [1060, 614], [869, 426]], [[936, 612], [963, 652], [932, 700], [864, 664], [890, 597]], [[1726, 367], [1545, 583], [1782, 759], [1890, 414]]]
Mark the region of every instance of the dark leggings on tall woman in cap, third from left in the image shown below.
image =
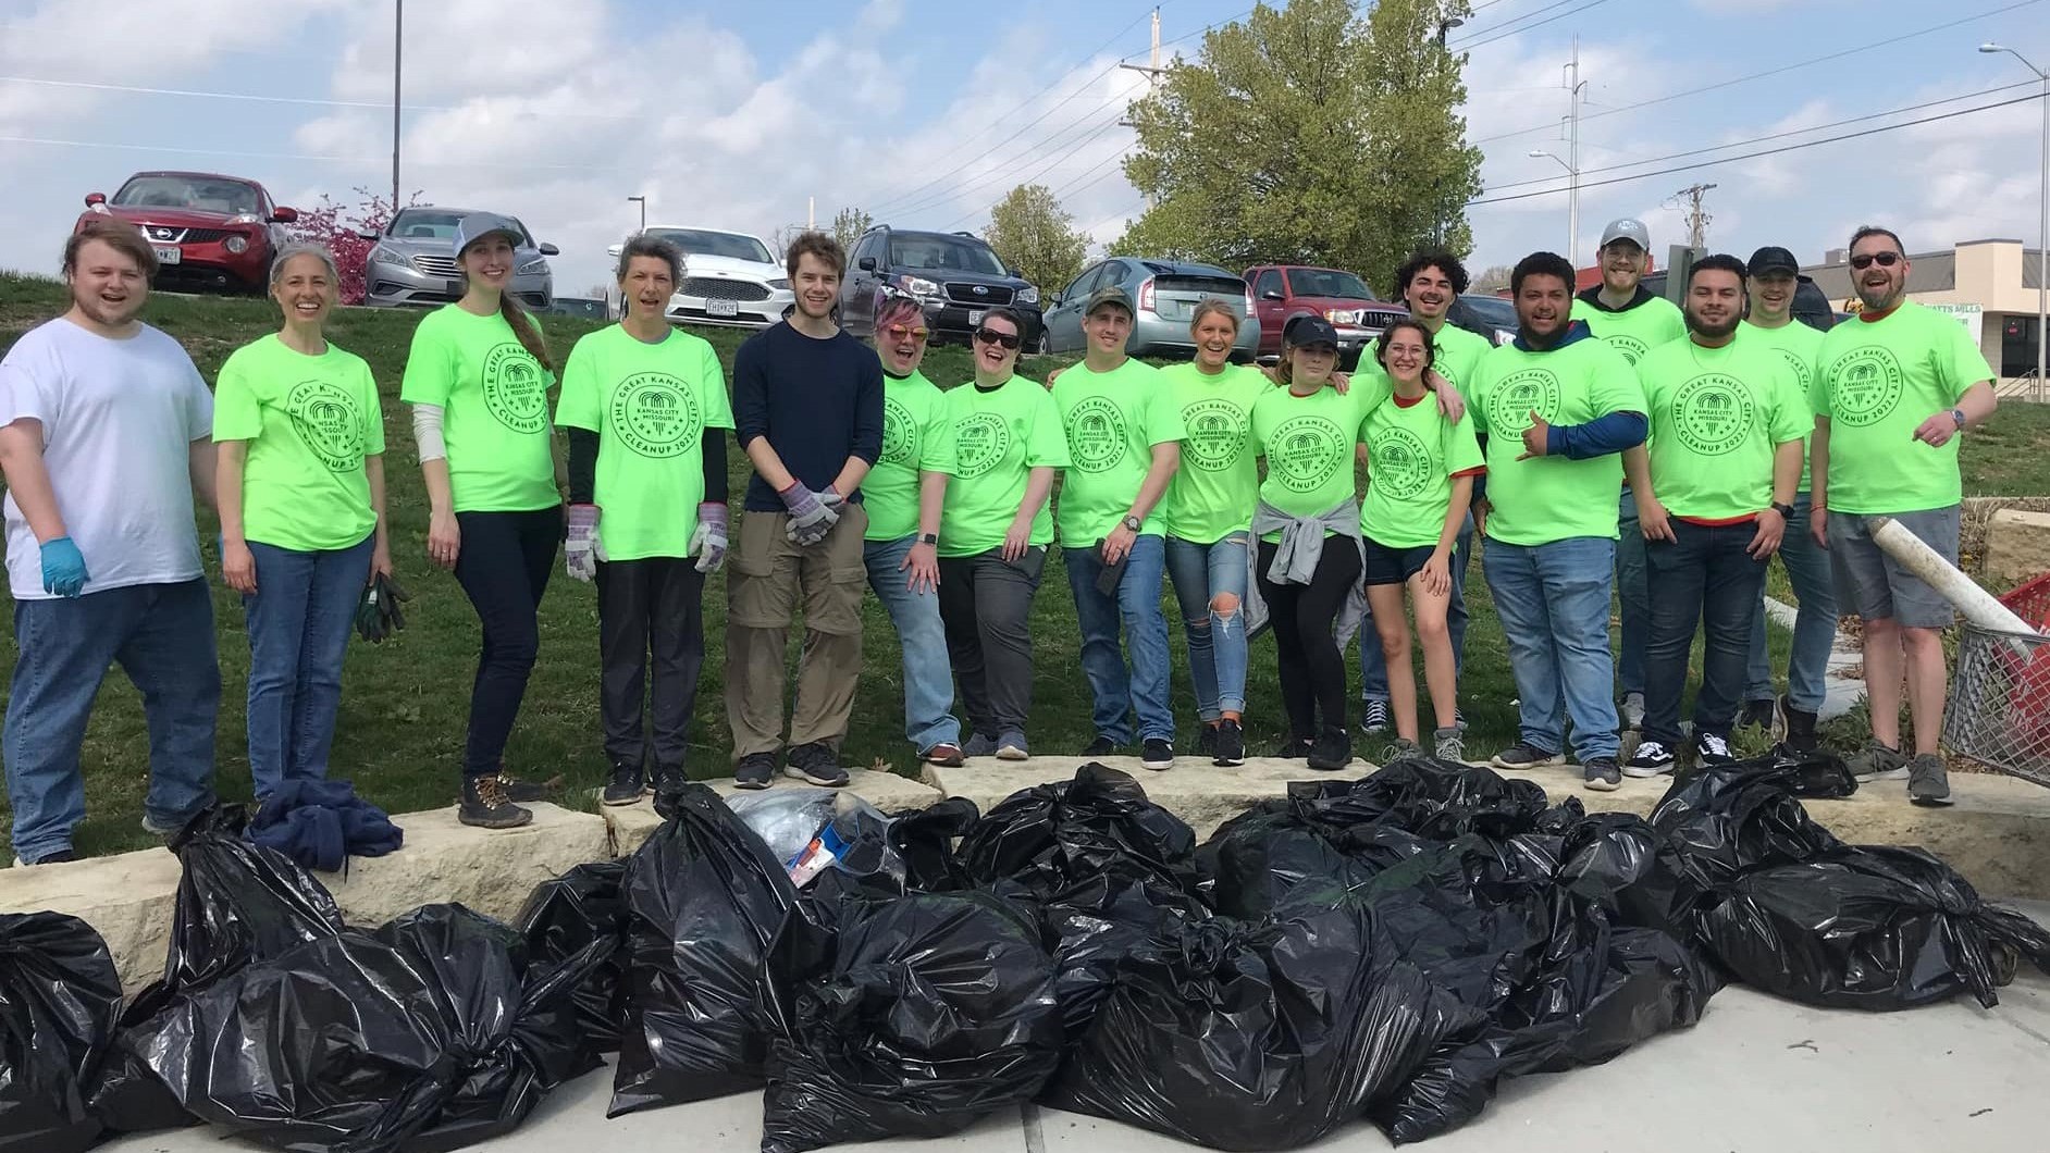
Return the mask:
[[562, 508], [535, 512], [457, 512], [463, 532], [455, 582], [484, 625], [478, 680], [469, 688], [469, 739], [463, 776], [498, 772], [512, 719], [527, 694], [527, 674], [541, 651], [539, 608], [556, 571]]

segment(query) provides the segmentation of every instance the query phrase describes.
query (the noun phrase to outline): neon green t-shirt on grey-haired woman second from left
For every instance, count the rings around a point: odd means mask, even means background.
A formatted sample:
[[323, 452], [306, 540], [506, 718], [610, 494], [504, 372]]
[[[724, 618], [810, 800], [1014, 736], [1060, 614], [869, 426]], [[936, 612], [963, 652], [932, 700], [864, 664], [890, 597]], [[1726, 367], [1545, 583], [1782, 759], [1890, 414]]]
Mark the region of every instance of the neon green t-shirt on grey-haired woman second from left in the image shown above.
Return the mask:
[[371, 367], [332, 342], [320, 356], [264, 336], [236, 348], [213, 387], [213, 440], [248, 440], [242, 537], [324, 553], [371, 535], [363, 457], [383, 453]]

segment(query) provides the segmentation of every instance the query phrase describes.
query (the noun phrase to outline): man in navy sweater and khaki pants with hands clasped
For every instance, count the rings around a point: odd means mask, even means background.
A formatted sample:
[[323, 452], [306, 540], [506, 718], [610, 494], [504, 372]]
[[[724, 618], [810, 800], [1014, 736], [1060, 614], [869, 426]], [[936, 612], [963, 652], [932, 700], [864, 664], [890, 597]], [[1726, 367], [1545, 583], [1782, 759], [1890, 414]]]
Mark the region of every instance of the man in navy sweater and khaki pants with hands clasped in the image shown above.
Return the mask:
[[808, 231], [785, 260], [797, 307], [734, 356], [734, 432], [754, 465], [726, 578], [726, 721], [734, 784], [767, 788], [783, 745], [783, 647], [804, 598], [804, 655], [783, 772], [847, 784], [840, 741], [861, 678], [861, 479], [884, 444], [884, 371], [832, 307], [847, 254]]

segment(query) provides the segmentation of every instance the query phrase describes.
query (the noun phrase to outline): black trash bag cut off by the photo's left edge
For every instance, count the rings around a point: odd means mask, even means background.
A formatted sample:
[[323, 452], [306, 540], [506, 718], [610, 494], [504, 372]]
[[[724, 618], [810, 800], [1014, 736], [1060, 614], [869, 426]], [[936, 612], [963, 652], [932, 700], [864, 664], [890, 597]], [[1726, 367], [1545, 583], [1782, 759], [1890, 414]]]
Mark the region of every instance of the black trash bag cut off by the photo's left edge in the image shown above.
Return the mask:
[[86, 1092], [121, 1016], [100, 934], [64, 913], [0, 913], [0, 1153], [80, 1153]]

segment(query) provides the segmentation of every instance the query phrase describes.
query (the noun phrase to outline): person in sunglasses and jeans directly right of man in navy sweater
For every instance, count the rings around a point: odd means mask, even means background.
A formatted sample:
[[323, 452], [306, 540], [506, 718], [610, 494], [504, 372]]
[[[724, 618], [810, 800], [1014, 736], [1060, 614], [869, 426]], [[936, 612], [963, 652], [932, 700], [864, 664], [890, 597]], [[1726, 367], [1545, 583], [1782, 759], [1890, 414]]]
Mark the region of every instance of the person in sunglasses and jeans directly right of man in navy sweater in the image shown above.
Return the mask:
[[875, 303], [875, 354], [884, 362], [884, 449], [861, 481], [869, 528], [861, 563], [904, 649], [904, 737], [918, 760], [961, 764], [953, 668], [939, 621], [939, 510], [953, 473], [947, 399], [918, 365], [931, 332], [914, 297]]

